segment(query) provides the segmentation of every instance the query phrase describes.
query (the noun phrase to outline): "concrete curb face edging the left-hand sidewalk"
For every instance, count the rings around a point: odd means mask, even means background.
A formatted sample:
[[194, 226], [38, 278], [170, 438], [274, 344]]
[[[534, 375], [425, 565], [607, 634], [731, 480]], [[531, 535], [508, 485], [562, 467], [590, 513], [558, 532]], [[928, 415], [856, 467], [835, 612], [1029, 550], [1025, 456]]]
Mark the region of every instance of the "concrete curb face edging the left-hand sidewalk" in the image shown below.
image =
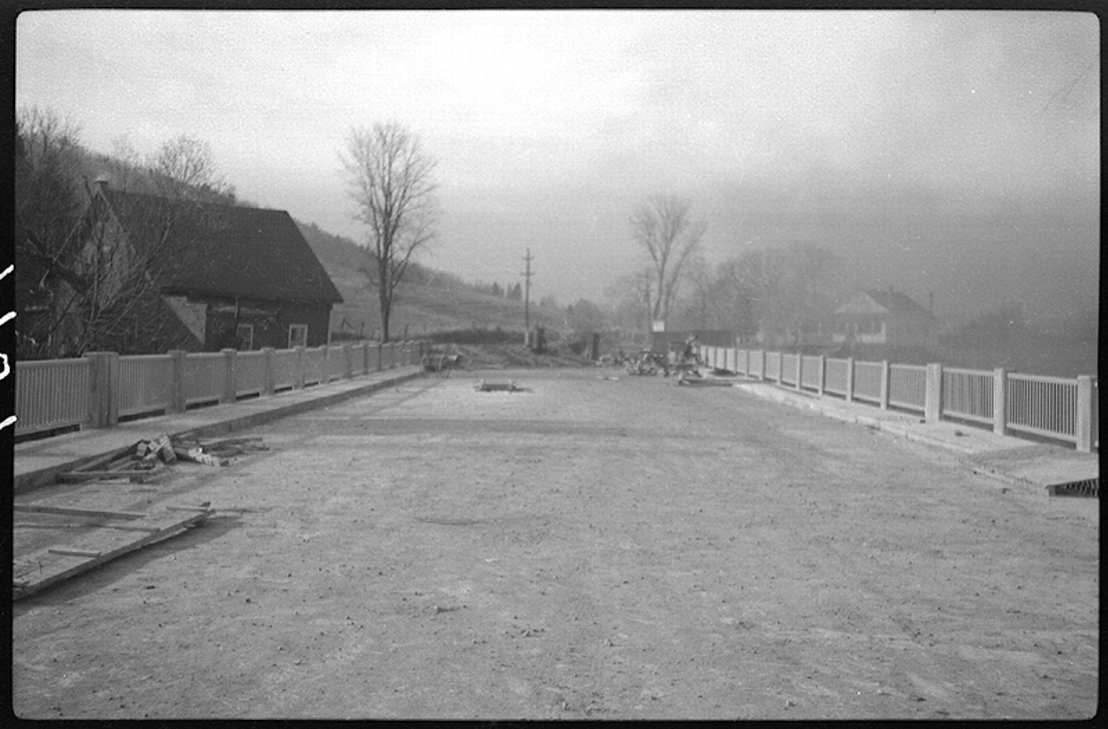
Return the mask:
[[[296, 415], [308, 410], [315, 410], [316, 408], [326, 408], [343, 400], [349, 400], [351, 398], [357, 398], [360, 396], [366, 396], [378, 390], [383, 390], [397, 384], [401, 384], [409, 380], [413, 380], [422, 376], [422, 372], [417, 370], [414, 372], [409, 372], [406, 374], [400, 374], [394, 378], [388, 378], [383, 380], [376, 380], [373, 382], [367, 382], [361, 387], [350, 388], [348, 390], [340, 390], [338, 392], [330, 392], [318, 398], [311, 398], [306, 400], [300, 400], [298, 402], [289, 403], [277, 403], [274, 408], [263, 410], [260, 412], [244, 413], [237, 417], [230, 417], [226, 420], [220, 420], [218, 422], [209, 423], [206, 425], [201, 425], [198, 428], [189, 428], [185, 430], [177, 430], [168, 432], [171, 438], [212, 438], [215, 435], [222, 435], [224, 433], [229, 433], [236, 430], [245, 430], [247, 428], [254, 428], [273, 420], [278, 420], [280, 418], [288, 418], [289, 415]], [[59, 473], [65, 471], [72, 471], [73, 469], [79, 469], [86, 463], [91, 463], [96, 459], [103, 458], [105, 455], [123, 455], [130, 451], [132, 445], [126, 445], [120, 449], [109, 449], [100, 453], [94, 453], [91, 455], [82, 455], [80, 458], [74, 458], [64, 463], [57, 463], [50, 466], [38, 469], [34, 471], [28, 471], [25, 473], [14, 474], [12, 479], [12, 491], [17, 494], [28, 493], [34, 491], [35, 489], [41, 489], [43, 486], [53, 485], [57, 483], [55, 479]]]

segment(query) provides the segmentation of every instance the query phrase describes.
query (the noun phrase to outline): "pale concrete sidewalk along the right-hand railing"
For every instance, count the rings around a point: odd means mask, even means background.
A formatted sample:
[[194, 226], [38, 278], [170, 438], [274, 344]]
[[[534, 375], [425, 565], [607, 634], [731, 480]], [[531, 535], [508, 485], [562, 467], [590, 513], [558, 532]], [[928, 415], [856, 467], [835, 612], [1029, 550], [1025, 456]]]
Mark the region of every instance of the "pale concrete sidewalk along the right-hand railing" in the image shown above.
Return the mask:
[[[710, 379], [710, 378], [709, 378]], [[769, 382], [737, 381], [735, 387], [774, 402], [847, 422], [875, 428], [901, 438], [963, 454], [963, 462], [983, 475], [1030, 485], [1054, 494], [1057, 486], [1085, 483], [1099, 495], [1100, 458], [1061, 445], [997, 435], [991, 430], [950, 421], [926, 422], [922, 415], [881, 410], [874, 405], [818, 398]]]

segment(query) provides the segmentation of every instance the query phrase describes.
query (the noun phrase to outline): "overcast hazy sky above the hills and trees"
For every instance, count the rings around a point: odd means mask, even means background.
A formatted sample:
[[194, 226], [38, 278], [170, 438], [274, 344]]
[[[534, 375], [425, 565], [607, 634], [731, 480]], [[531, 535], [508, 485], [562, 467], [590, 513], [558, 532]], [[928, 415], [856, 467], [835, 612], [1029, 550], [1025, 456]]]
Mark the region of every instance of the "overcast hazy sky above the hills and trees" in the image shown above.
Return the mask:
[[[338, 151], [398, 121], [440, 161], [424, 263], [512, 283], [530, 247], [563, 302], [636, 266], [655, 193], [693, 201], [711, 260], [825, 233], [919, 297], [880, 261], [966, 216], [1025, 247], [1059, 227], [1096, 269], [1099, 42], [1056, 12], [32, 11], [16, 94], [98, 151], [206, 140], [239, 197], [356, 240]], [[978, 265], [1008, 245], [951, 235]], [[952, 301], [984, 286], [941, 274]]]

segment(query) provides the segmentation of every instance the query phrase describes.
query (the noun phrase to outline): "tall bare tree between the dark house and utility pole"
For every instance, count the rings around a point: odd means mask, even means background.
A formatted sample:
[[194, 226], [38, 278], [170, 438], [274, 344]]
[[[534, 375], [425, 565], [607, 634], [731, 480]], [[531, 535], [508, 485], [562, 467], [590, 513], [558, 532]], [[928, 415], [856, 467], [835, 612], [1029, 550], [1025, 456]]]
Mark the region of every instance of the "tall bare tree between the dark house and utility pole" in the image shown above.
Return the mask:
[[377, 289], [381, 338], [389, 341], [389, 315], [412, 255], [434, 235], [437, 161], [396, 122], [353, 127], [340, 152], [356, 219], [366, 224], [370, 260], [365, 269]]

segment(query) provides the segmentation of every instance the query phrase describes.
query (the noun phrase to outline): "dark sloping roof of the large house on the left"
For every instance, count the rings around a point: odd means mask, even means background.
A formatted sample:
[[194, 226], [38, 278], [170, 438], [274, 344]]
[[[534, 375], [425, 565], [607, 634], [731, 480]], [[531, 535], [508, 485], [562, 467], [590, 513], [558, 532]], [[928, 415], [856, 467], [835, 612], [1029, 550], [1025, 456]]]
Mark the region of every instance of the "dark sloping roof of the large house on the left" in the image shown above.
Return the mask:
[[[285, 211], [104, 189], [136, 248], [156, 245], [163, 294], [341, 304], [342, 297]], [[168, 225], [166, 225], [168, 223]]]

